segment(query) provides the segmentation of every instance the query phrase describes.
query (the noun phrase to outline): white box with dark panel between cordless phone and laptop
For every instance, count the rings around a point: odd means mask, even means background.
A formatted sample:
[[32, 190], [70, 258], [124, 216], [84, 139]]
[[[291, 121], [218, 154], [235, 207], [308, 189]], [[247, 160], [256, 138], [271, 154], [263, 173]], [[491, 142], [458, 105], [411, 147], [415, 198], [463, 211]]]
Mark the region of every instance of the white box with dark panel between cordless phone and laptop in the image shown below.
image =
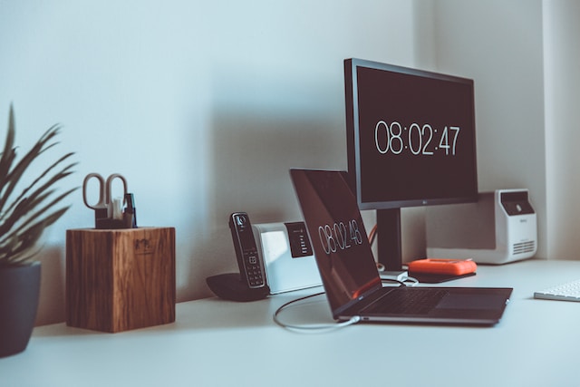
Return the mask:
[[304, 222], [263, 223], [253, 227], [271, 294], [322, 285]]

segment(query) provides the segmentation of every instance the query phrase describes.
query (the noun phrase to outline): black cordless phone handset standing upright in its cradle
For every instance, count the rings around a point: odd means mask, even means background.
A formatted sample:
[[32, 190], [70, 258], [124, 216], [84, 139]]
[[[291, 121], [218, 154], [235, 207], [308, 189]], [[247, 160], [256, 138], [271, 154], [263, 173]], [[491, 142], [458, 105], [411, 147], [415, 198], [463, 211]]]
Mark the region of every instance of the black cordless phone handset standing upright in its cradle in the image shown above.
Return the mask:
[[264, 287], [264, 267], [257, 255], [256, 239], [247, 213], [234, 212], [229, 217], [229, 228], [236, 249], [240, 280], [245, 281], [249, 288]]

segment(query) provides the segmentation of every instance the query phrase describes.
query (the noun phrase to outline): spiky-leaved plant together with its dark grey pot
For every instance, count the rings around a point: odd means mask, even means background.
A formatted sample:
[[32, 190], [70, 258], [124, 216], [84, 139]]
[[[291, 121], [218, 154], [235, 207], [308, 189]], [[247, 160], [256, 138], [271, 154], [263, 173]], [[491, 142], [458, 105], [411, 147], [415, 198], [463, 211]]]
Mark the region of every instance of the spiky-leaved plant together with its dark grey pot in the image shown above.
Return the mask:
[[55, 138], [60, 129], [60, 125], [53, 125], [17, 160], [14, 110], [10, 106], [0, 154], [0, 357], [23, 352], [28, 345], [40, 289], [41, 265], [34, 261], [40, 251], [37, 242], [44, 229], [70, 207], [55, 209], [74, 190], [58, 193], [55, 185], [73, 173], [73, 152], [47, 162], [48, 167], [38, 174], [29, 169], [46, 150], [58, 144]]

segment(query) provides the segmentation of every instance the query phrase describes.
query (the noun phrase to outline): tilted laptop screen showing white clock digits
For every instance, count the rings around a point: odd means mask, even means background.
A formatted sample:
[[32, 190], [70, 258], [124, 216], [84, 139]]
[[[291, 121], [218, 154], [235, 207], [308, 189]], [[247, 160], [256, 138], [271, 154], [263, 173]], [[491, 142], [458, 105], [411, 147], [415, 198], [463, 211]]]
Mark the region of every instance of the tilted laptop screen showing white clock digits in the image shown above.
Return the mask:
[[331, 308], [381, 287], [356, 198], [345, 172], [291, 169], [290, 175]]

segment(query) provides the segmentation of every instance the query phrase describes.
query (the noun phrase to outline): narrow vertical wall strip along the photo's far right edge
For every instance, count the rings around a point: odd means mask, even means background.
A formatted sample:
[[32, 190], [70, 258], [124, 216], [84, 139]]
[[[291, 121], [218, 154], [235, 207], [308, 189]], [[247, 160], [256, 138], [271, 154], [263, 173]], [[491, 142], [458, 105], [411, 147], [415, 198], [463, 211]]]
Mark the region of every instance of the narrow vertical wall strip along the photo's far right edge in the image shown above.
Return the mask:
[[549, 255], [580, 258], [580, 2], [544, 1]]

